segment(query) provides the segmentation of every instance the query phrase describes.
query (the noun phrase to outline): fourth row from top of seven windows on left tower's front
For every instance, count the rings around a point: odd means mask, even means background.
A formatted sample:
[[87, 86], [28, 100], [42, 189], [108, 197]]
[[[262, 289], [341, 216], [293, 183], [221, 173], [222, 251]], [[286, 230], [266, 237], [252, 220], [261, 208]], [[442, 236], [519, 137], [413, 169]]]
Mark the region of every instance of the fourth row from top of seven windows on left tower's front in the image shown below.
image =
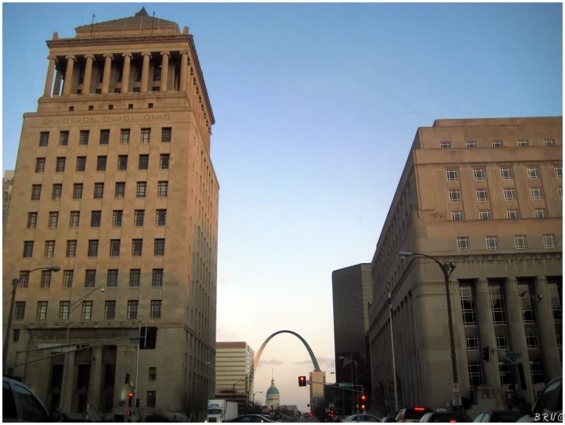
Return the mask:
[[[124, 211], [115, 209], [112, 211], [112, 227], [122, 227]], [[69, 227], [76, 228], [81, 219], [81, 211], [71, 211]], [[102, 223], [102, 211], [91, 211], [91, 227], [100, 227]], [[167, 223], [167, 210], [157, 209], [155, 211], [155, 225], [165, 226]], [[47, 228], [57, 228], [59, 225], [59, 211], [49, 211]], [[134, 226], [145, 225], [145, 210], [134, 210]], [[28, 228], [37, 228], [37, 212], [28, 212]]]

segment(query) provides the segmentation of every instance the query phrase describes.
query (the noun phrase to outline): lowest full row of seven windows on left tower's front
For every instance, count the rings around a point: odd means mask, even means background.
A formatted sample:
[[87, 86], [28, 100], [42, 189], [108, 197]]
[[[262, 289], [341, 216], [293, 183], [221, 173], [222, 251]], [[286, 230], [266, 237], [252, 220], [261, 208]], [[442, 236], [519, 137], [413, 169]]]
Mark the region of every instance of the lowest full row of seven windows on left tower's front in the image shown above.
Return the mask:
[[[59, 301], [59, 320], [68, 320], [70, 314], [71, 301]], [[82, 302], [82, 320], [91, 320], [94, 301]], [[161, 319], [163, 301], [151, 300], [151, 319]], [[139, 300], [127, 301], [127, 318], [135, 320], [139, 313]], [[104, 318], [107, 320], [116, 317], [116, 301], [104, 301]], [[14, 317], [15, 320], [23, 320], [25, 318], [25, 301], [16, 301]], [[45, 320], [47, 318], [47, 301], [37, 301], [36, 320]]]

